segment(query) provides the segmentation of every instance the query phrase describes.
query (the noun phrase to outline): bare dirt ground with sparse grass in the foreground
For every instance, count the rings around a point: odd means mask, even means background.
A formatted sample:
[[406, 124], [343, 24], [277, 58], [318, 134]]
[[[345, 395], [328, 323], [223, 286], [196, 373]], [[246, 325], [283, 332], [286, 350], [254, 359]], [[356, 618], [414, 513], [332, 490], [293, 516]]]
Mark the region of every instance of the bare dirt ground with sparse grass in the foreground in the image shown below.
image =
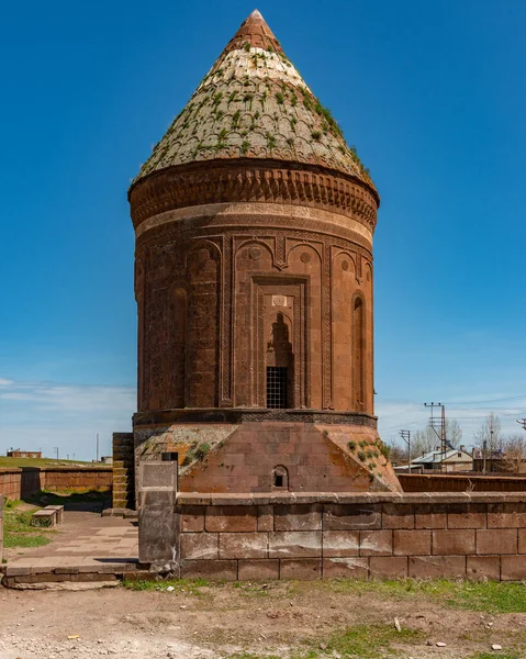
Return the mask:
[[[357, 647], [366, 649], [334, 649], [342, 646], [331, 645], [332, 638], [348, 628], [363, 634], [361, 625], [369, 626], [366, 646]], [[376, 629], [388, 629], [384, 650], [374, 645]], [[410, 640], [406, 634], [413, 635]], [[446, 647], [437, 647], [437, 641]], [[492, 644], [501, 645], [502, 651], [492, 651]], [[174, 592], [123, 587], [78, 592], [0, 589], [1, 659], [493, 655], [526, 657], [526, 614], [463, 611], [421, 596], [400, 599], [331, 582], [184, 584]]]

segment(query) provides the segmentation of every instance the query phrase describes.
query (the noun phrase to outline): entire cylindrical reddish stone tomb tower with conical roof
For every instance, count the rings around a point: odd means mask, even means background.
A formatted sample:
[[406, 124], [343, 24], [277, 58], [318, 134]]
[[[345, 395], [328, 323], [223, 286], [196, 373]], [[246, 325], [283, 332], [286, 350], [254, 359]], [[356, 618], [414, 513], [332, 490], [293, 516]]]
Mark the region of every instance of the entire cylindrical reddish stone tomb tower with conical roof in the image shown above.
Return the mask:
[[130, 203], [136, 463], [177, 451], [182, 491], [398, 489], [373, 416], [379, 196], [258, 11]]

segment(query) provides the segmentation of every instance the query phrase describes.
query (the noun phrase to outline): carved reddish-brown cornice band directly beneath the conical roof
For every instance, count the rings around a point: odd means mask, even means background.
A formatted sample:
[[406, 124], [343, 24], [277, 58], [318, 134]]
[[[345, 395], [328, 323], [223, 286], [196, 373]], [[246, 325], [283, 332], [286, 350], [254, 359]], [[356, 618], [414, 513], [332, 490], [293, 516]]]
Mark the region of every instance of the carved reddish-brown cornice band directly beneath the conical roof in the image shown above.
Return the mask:
[[134, 227], [166, 211], [224, 202], [306, 205], [347, 215], [371, 232], [379, 197], [350, 176], [322, 167], [272, 160], [194, 163], [138, 180], [128, 193]]

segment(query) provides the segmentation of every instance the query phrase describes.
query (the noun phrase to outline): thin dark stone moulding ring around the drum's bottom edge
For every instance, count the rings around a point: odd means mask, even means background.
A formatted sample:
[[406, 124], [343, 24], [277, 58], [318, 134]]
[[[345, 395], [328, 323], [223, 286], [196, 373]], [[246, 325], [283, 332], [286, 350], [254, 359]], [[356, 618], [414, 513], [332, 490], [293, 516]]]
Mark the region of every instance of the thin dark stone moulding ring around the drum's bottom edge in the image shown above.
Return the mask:
[[137, 412], [134, 427], [165, 423], [243, 423], [272, 421], [279, 423], [323, 423], [377, 427], [377, 417], [360, 412], [331, 412], [324, 410], [267, 410], [240, 407], [211, 407], [191, 410], [160, 410]]

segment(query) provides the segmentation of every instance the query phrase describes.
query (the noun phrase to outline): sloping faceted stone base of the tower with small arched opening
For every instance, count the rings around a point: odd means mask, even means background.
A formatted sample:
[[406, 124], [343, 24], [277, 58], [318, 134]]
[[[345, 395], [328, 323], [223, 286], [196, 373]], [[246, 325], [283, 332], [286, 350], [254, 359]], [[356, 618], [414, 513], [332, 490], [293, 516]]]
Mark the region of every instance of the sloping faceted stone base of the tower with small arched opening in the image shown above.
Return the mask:
[[[171, 410], [134, 417], [135, 473], [177, 453], [180, 492], [401, 491], [376, 417], [309, 410]], [[137, 491], [141, 483], [136, 479]]]

